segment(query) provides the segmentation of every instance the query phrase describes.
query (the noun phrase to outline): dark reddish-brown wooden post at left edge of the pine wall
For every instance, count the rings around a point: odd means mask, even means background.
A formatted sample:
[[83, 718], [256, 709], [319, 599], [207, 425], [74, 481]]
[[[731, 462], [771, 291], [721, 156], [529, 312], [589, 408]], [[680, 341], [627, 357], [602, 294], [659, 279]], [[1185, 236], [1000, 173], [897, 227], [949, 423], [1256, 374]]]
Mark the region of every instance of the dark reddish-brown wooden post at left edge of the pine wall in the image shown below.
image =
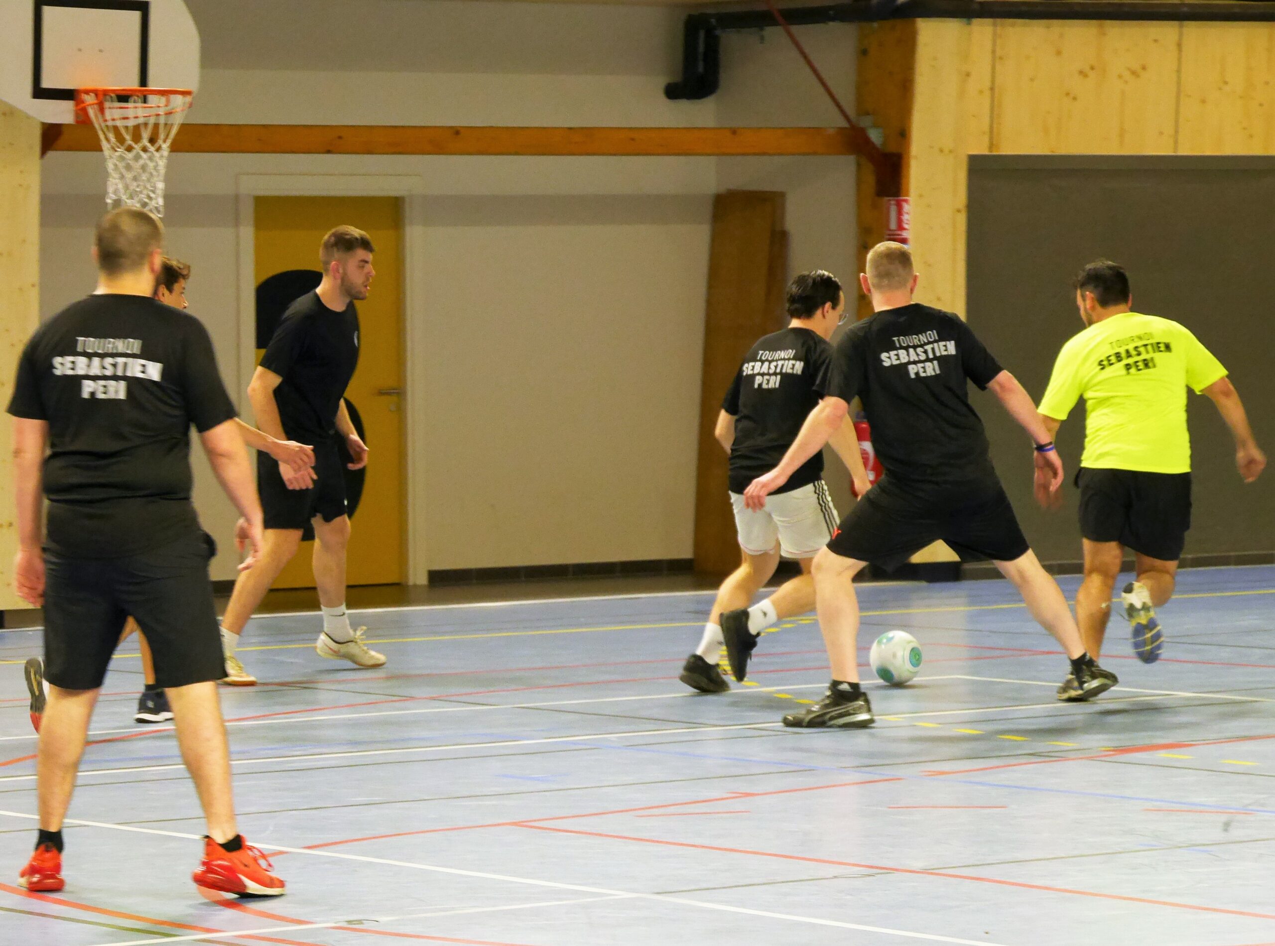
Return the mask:
[[[859, 60], [856, 76], [856, 113], [871, 115], [885, 133], [887, 152], [903, 154], [903, 194], [910, 190], [910, 130], [915, 79], [918, 22], [910, 19], [859, 24]], [[876, 175], [858, 162], [859, 272], [868, 250], [885, 240], [885, 200], [876, 195]], [[854, 273], [839, 273], [848, 293], [858, 297], [858, 317], [872, 315], [872, 303], [850, 287]]]

